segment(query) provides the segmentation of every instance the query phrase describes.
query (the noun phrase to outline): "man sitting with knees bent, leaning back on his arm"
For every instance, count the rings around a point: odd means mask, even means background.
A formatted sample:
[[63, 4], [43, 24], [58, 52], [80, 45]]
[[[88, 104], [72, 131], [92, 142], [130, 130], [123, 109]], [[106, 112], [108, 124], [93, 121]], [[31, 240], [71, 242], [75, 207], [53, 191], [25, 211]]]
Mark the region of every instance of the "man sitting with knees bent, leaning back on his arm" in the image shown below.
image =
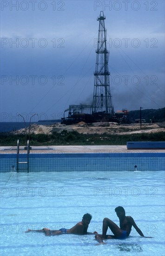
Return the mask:
[[[136, 229], [140, 236], [152, 238], [151, 236], [144, 236], [142, 231], [138, 228], [131, 216], [125, 216], [125, 209], [122, 206], [115, 208], [115, 212], [119, 217], [120, 228], [108, 218], [103, 220], [103, 234], [95, 236], [99, 244], [104, 244], [104, 239], [125, 239], [131, 233], [132, 226]], [[106, 235], [108, 227], [114, 235]]]

